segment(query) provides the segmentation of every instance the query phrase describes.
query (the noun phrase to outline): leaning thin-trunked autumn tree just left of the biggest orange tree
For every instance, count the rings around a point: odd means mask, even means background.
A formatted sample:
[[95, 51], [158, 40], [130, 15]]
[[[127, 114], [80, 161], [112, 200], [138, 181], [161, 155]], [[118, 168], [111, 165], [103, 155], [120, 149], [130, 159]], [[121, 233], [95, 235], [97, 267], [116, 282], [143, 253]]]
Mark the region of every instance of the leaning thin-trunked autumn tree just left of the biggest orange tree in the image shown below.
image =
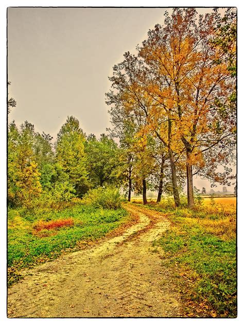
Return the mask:
[[[131, 55], [129, 52], [124, 54], [125, 60], [113, 67], [113, 76], [109, 78], [112, 82], [111, 90], [106, 94], [107, 104], [112, 106], [112, 111], [123, 111], [129, 118], [133, 118], [138, 136], [140, 132], [145, 132], [151, 136], [154, 132], [160, 138], [163, 145], [167, 148], [167, 154], [170, 159], [172, 190], [175, 198], [176, 206], [180, 204], [180, 196], [177, 185], [177, 175], [175, 166], [175, 157], [171, 147], [171, 122], [168, 123], [168, 128], [162, 133], [167, 135], [167, 140], [163, 139], [159, 130], [153, 127], [151, 113], [154, 107], [153, 99], [145, 91], [145, 83], [150, 76], [148, 69], [142, 60]], [[157, 121], [159, 122], [159, 121]], [[163, 123], [161, 122], [162, 128]], [[143, 180], [145, 185], [145, 181]]]

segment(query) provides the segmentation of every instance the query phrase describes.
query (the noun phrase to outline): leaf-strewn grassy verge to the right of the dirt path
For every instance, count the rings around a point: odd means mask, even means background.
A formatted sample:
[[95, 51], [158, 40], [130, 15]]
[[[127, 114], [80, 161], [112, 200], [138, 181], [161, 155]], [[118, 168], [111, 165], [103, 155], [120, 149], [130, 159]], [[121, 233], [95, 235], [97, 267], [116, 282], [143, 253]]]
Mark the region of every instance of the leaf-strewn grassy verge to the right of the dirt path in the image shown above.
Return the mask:
[[214, 205], [166, 212], [172, 222], [160, 239], [165, 259], [178, 270], [190, 317], [236, 317], [235, 208]]

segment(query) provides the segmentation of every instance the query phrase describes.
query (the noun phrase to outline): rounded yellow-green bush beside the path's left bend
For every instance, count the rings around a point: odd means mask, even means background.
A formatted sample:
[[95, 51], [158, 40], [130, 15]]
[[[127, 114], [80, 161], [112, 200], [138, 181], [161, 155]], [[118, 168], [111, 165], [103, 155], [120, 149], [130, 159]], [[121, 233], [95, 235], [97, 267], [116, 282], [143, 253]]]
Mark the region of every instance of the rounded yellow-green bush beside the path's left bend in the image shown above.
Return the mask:
[[104, 209], [118, 209], [121, 207], [121, 201], [118, 189], [113, 187], [91, 189], [82, 199], [83, 204]]

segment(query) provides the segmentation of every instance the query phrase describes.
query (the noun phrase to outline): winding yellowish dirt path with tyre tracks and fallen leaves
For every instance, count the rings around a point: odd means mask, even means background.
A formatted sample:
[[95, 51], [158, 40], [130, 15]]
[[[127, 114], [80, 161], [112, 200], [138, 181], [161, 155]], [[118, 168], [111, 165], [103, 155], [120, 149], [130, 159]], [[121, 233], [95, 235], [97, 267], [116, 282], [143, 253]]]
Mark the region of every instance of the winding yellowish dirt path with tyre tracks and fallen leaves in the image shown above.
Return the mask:
[[140, 222], [25, 272], [8, 290], [9, 317], [179, 317], [180, 294], [155, 239], [170, 227], [159, 212], [126, 208]]

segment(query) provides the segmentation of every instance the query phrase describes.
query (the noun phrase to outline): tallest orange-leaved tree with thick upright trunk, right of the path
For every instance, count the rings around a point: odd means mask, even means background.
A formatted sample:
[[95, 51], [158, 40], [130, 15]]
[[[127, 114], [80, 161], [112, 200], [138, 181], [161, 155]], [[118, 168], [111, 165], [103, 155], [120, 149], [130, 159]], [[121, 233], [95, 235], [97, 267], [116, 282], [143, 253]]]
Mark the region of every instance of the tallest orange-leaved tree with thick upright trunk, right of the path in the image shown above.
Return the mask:
[[[193, 167], [204, 167], [203, 152], [233, 137], [228, 116], [221, 119], [213, 107], [216, 98], [228, 97], [233, 83], [225, 62], [210, 46], [214, 14], [199, 16], [194, 8], [166, 13], [164, 26], [156, 25], [139, 55], [151, 68], [147, 92], [155, 100], [150, 123], [168, 120], [172, 141], [184, 145], [188, 206], [194, 205]], [[225, 128], [222, 128], [222, 125]], [[179, 148], [180, 149], [180, 148]]]

